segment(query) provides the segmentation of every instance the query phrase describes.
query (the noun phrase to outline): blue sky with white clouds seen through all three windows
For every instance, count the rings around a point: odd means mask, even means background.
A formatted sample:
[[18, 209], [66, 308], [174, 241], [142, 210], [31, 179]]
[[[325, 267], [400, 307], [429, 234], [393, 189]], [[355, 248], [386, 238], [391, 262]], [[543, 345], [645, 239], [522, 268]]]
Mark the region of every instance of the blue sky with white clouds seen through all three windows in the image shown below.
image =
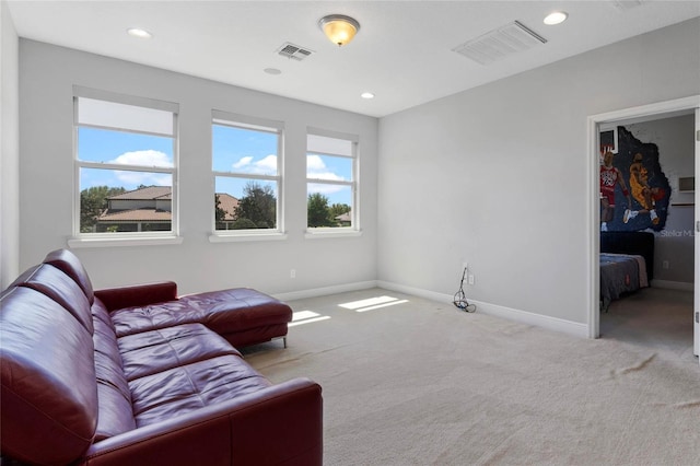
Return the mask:
[[[277, 135], [228, 126], [213, 125], [212, 165], [224, 173], [276, 175]], [[82, 161], [112, 164], [129, 164], [143, 167], [173, 166], [171, 138], [135, 132], [79, 128], [78, 153]], [[180, 154], [180, 159], [184, 155]], [[319, 179], [351, 179], [352, 161], [348, 158], [307, 155], [307, 176]], [[229, 193], [241, 198], [249, 179], [219, 176], [217, 193]], [[256, 180], [267, 184], [265, 180]], [[82, 168], [80, 189], [92, 186], [136, 189], [139, 185], [172, 186], [171, 176], [153, 172], [132, 172], [101, 168]], [[275, 186], [275, 184], [270, 184]], [[329, 203], [351, 205], [351, 190], [346, 186], [310, 185], [310, 193], [318, 191], [328, 197]], [[277, 193], [276, 193], [277, 195]]]

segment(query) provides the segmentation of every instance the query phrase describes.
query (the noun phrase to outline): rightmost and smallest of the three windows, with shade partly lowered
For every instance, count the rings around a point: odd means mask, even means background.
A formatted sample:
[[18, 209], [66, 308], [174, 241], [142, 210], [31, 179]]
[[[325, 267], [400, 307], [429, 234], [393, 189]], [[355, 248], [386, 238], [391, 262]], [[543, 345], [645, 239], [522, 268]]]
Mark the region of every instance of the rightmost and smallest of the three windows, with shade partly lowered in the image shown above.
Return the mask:
[[310, 130], [306, 137], [306, 193], [310, 231], [359, 230], [357, 138]]

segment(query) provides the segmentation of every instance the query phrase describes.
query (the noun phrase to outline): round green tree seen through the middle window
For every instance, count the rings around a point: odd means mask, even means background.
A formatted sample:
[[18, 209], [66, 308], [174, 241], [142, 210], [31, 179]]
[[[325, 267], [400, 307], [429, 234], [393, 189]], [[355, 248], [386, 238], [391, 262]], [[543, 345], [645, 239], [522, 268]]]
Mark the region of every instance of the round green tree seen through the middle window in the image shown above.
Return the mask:
[[238, 200], [234, 217], [237, 220], [233, 228], [237, 230], [273, 229], [277, 225], [277, 198], [272, 187], [248, 182], [243, 189], [243, 197]]

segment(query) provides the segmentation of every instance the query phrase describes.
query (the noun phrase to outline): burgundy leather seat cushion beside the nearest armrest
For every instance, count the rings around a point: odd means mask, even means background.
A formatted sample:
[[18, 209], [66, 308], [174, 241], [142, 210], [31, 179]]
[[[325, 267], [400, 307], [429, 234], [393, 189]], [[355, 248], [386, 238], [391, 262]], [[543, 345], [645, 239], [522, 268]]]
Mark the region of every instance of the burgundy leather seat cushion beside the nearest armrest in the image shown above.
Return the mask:
[[240, 356], [226, 354], [129, 382], [138, 427], [269, 387]]

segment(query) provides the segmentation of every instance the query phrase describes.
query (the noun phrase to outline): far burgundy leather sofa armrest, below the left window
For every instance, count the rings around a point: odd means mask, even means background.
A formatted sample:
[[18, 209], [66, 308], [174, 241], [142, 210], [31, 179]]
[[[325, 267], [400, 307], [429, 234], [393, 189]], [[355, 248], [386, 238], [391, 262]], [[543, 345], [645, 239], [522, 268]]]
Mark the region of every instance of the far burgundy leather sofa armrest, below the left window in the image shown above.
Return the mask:
[[107, 311], [124, 307], [144, 306], [177, 299], [177, 284], [174, 281], [133, 284], [128, 287], [106, 288], [95, 291]]

